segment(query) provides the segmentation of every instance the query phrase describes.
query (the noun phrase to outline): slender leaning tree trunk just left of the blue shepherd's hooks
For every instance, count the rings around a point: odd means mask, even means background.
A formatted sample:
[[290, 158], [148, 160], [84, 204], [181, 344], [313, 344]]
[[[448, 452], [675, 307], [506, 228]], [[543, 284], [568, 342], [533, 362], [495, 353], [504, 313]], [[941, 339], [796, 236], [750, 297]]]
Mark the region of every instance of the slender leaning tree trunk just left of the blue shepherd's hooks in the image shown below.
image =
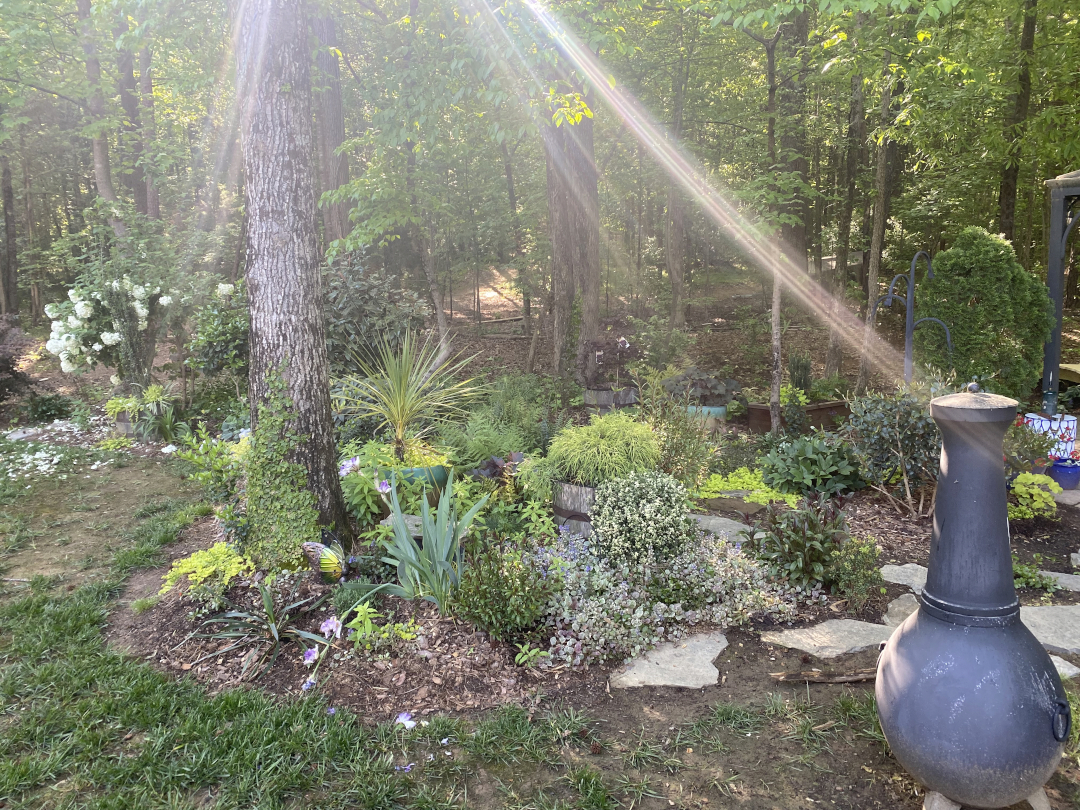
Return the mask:
[[859, 177], [859, 156], [866, 139], [866, 112], [863, 100], [863, 75], [851, 77], [851, 107], [848, 111], [848, 133], [845, 139], [845, 158], [840, 171], [843, 202], [837, 220], [836, 260], [833, 264], [833, 301], [828, 319], [828, 353], [825, 355], [825, 376], [835, 377], [843, 365], [843, 328], [840, 313], [848, 286], [848, 254], [851, 252], [851, 217], [855, 211], [855, 180]]

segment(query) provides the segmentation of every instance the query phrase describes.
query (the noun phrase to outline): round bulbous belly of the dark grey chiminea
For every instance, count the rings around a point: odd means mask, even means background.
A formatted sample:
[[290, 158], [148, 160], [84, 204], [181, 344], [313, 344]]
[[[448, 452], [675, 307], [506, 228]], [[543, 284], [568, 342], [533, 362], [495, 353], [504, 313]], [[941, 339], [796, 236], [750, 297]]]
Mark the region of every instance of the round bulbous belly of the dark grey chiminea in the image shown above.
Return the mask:
[[966, 806], [1022, 801], [1061, 761], [1053, 727], [1067, 711], [1064, 689], [1018, 613], [1003, 626], [913, 613], [881, 653], [876, 692], [896, 759]]

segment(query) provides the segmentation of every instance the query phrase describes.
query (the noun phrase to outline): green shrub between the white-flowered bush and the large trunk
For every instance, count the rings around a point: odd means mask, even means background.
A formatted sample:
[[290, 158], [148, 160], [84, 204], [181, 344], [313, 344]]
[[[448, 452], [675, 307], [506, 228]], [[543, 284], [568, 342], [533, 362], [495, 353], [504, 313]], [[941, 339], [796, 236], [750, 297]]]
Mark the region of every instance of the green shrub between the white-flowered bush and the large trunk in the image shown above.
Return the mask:
[[243, 282], [233, 287], [221, 284], [205, 303], [191, 313], [188, 340], [189, 366], [206, 376], [229, 372], [247, 379], [248, 333], [247, 291]]

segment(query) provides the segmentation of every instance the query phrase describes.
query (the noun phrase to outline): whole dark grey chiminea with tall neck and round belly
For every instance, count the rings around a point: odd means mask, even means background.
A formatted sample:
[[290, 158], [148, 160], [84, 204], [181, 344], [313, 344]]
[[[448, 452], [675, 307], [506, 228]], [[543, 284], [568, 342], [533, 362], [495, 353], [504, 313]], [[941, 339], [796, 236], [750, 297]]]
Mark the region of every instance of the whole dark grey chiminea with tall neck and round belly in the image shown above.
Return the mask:
[[930, 566], [919, 609], [878, 660], [881, 730], [913, 777], [955, 802], [1049, 807], [1042, 786], [1070, 717], [1013, 586], [1001, 447], [1016, 402], [950, 394], [930, 414], [943, 438]]

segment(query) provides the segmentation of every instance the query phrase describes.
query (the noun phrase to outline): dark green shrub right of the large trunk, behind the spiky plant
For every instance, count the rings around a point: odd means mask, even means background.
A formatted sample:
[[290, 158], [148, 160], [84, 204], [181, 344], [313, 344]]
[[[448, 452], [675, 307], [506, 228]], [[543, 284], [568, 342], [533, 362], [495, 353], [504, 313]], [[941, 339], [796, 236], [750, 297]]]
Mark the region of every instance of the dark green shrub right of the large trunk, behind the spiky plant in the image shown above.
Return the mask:
[[386, 341], [400, 351], [410, 332], [423, 328], [427, 302], [390, 274], [365, 269], [350, 254], [323, 271], [326, 352], [335, 375], [363, 374], [356, 362], [378, 364]]

